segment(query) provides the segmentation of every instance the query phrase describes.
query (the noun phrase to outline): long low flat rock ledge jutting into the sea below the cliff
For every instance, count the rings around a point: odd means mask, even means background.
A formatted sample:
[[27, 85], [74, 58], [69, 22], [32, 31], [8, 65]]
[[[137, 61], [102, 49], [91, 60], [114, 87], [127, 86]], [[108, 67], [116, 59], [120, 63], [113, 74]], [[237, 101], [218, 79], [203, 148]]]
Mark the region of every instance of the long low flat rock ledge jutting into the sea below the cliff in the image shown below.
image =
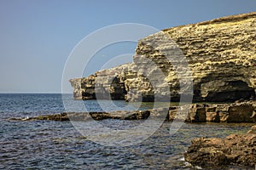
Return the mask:
[[256, 122], [256, 101], [230, 104], [192, 104], [147, 111], [64, 112], [55, 115], [12, 118], [11, 120], [84, 121], [91, 118], [94, 120], [143, 120], [149, 116], [157, 118], [165, 116], [167, 121], [176, 119], [184, 122]]

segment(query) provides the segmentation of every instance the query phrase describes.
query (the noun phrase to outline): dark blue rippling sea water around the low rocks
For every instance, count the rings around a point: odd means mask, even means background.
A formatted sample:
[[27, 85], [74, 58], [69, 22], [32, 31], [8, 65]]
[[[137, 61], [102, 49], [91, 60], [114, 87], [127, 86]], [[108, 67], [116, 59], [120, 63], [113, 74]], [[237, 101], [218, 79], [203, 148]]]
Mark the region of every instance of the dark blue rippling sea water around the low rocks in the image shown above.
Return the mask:
[[[73, 102], [73, 105], [81, 102], [74, 100], [72, 94], [65, 94], [65, 99]], [[102, 105], [96, 100], [82, 102], [87, 111], [102, 111]], [[120, 108], [132, 111], [138, 108], [122, 100], [104, 100], [102, 103], [108, 106], [108, 111], [118, 111]], [[139, 108], [144, 110], [152, 108], [152, 105], [143, 103]], [[246, 133], [252, 126], [244, 123], [183, 123], [176, 133], [170, 133], [172, 122], [163, 122], [141, 142], [108, 145], [80, 133], [72, 122], [11, 119], [63, 111], [67, 109], [61, 94], [0, 94], [0, 169], [201, 169], [191, 167], [184, 161], [183, 153], [191, 144], [191, 139], [224, 138], [230, 133]], [[102, 127], [115, 129], [137, 126], [143, 122], [115, 119], [96, 121]], [[102, 140], [104, 138], [106, 136], [102, 135]]]

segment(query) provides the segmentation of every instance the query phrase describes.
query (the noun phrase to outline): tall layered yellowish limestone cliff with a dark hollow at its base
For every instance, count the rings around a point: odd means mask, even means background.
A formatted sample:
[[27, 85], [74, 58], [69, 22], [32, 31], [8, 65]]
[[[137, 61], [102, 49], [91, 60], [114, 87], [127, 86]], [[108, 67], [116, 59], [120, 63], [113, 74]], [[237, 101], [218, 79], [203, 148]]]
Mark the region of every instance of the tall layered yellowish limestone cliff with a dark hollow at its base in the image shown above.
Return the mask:
[[[133, 63], [70, 82], [75, 99], [154, 101], [156, 94], [168, 91], [178, 101], [189, 78], [194, 101], [255, 99], [255, 52], [256, 13], [240, 14], [145, 37], [138, 42]], [[183, 74], [188, 68], [179, 65], [183, 62], [191, 71], [187, 82], [180, 80], [188, 77]]]

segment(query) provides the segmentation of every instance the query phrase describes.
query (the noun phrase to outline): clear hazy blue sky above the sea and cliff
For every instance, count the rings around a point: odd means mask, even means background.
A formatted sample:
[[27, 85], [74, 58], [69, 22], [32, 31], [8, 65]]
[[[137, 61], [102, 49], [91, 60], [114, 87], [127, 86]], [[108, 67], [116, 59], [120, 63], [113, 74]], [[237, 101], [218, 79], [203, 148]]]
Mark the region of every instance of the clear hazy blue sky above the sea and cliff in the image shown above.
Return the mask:
[[[161, 30], [253, 11], [254, 0], [0, 0], [0, 93], [60, 93], [73, 48], [105, 26], [138, 23]], [[94, 62], [134, 54], [136, 42], [113, 46]], [[84, 76], [98, 69], [92, 64]]]

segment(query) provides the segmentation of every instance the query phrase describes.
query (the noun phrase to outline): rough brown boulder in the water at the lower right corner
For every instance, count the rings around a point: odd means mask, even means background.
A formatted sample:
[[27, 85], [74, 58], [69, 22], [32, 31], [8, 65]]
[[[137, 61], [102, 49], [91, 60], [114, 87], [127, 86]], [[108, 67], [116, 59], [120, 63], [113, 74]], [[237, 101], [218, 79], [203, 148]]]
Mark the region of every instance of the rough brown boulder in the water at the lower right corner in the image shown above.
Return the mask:
[[221, 167], [239, 165], [255, 167], [256, 125], [246, 134], [230, 134], [224, 139], [193, 139], [184, 154], [185, 161], [193, 166]]

